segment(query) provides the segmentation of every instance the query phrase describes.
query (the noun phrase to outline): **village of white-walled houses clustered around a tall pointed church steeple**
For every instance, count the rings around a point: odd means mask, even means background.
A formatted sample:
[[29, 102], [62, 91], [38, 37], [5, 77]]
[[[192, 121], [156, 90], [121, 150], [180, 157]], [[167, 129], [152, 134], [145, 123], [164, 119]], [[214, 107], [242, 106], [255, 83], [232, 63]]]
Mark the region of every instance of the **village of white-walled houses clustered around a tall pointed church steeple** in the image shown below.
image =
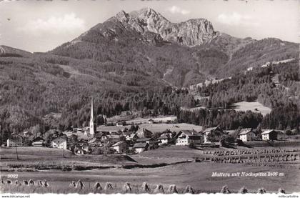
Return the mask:
[[[151, 132], [143, 124], [127, 124], [126, 121], [106, 124], [119, 127], [119, 130], [103, 130], [104, 127], [94, 126], [93, 102], [91, 102], [91, 119], [89, 127], [72, 128], [65, 132], [51, 129], [43, 136], [34, 136], [26, 131], [22, 134], [11, 134], [6, 147], [49, 147], [53, 149], [68, 149], [74, 154], [139, 154], [141, 152], [158, 149], [170, 145], [186, 146], [193, 149], [218, 148], [253, 145], [262, 147], [272, 146], [279, 140], [281, 134], [296, 132], [279, 132], [274, 129], [236, 129], [224, 130], [221, 127], [195, 130], [185, 129], [176, 123], [171, 123], [179, 129], [171, 131], [161, 127], [159, 132]], [[146, 119], [148, 125], [159, 125], [154, 119]], [[167, 120], [166, 122], [170, 122]], [[174, 121], [173, 121], [174, 122]], [[116, 129], [116, 128], [114, 128]], [[251, 144], [253, 142], [254, 144]]]

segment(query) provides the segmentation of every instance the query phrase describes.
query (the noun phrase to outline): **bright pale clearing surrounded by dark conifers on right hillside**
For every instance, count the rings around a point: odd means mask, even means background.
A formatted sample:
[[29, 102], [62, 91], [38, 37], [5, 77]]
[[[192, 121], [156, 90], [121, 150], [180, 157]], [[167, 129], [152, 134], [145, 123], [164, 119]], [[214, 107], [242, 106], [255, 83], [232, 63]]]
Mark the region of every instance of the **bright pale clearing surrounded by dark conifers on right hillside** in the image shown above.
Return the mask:
[[271, 109], [269, 107], [265, 107], [263, 104], [259, 102], [237, 102], [234, 103], [233, 106], [234, 106], [234, 110], [236, 111], [244, 111], [244, 112], [251, 111], [251, 112], [261, 113], [263, 116], [271, 112]]

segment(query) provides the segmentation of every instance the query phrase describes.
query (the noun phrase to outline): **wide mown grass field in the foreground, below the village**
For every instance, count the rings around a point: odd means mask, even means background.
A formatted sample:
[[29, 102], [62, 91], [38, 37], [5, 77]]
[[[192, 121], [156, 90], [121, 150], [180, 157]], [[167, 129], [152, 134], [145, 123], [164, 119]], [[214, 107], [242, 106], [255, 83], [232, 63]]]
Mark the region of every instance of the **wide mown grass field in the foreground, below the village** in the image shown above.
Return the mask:
[[[194, 162], [189, 159], [194, 157], [203, 157], [205, 154], [196, 149], [190, 149], [184, 146], [160, 147], [150, 151], [136, 154], [126, 158], [124, 156], [76, 156], [70, 154], [68, 158], [60, 156], [58, 149], [28, 147], [22, 149], [19, 147], [21, 157], [19, 161], [14, 156], [15, 148], [1, 148], [1, 179], [6, 180], [8, 174], [17, 174], [18, 180], [33, 179], [34, 181], [46, 179], [50, 187], [47, 189], [27, 189], [18, 187], [22, 192], [55, 192], [68, 193], [77, 192], [78, 189], [70, 189], [69, 183], [81, 179], [86, 188], [80, 193], [94, 192], [95, 182], [100, 182], [104, 187], [106, 182], [111, 182], [114, 186], [112, 192], [121, 192], [124, 182], [129, 182], [134, 192], [139, 192], [138, 187], [142, 182], [147, 182], [152, 189], [156, 184], [163, 184], [166, 190], [170, 184], [176, 184], [179, 192], [182, 192], [186, 185], [191, 185], [197, 193], [199, 192], [220, 192], [221, 187], [228, 185], [231, 192], [238, 192], [242, 186], [246, 186], [249, 192], [256, 192], [260, 187], [264, 187], [267, 192], [277, 192], [279, 187], [284, 188], [286, 192], [299, 192], [300, 167], [299, 162], [286, 164], [286, 166], [269, 166], [262, 164], [219, 164], [214, 162]], [[222, 150], [227, 150], [221, 148]], [[220, 150], [221, 150], [220, 149]], [[241, 149], [241, 148], [239, 148]], [[249, 149], [249, 148], [244, 148]], [[257, 148], [256, 148], [257, 149]], [[46, 153], [43, 154], [42, 153]], [[135, 161], [133, 162], [132, 159]], [[71, 169], [61, 171], [60, 169], [43, 169], [34, 172], [20, 170], [18, 172], [8, 172], [3, 169], [7, 164], [94, 164], [95, 167], [86, 170]], [[285, 162], [287, 163], [287, 162]], [[296, 164], [295, 164], [296, 163]], [[104, 164], [114, 164], [111, 167], [96, 168]], [[119, 165], [118, 165], [119, 164]], [[133, 165], [139, 166], [133, 166]], [[149, 166], [149, 165], [154, 166]], [[164, 164], [164, 165], [159, 165]], [[123, 165], [123, 166], [121, 166]], [[124, 165], [131, 166], [126, 167]], [[144, 166], [142, 166], [144, 165]], [[16, 169], [15, 169], [16, 171]], [[282, 177], [211, 177], [213, 172], [236, 173], [236, 172], [283, 172]], [[14, 181], [14, 179], [11, 179]], [[10, 192], [13, 187], [2, 186], [2, 192]], [[101, 193], [106, 193], [101, 191]], [[110, 193], [110, 192], [107, 192]]]

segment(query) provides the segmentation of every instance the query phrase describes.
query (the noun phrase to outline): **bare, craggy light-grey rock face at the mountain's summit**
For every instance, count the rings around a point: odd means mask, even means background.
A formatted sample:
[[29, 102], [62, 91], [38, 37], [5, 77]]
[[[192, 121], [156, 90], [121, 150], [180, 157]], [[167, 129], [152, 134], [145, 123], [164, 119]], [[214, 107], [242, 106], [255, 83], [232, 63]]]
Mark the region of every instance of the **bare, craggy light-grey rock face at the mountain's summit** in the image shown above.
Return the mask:
[[208, 43], [216, 37], [211, 22], [206, 19], [189, 19], [181, 23], [171, 23], [164, 16], [146, 8], [127, 14], [120, 11], [108, 21], [119, 21], [126, 29], [133, 29], [146, 39], [176, 42], [186, 46]]

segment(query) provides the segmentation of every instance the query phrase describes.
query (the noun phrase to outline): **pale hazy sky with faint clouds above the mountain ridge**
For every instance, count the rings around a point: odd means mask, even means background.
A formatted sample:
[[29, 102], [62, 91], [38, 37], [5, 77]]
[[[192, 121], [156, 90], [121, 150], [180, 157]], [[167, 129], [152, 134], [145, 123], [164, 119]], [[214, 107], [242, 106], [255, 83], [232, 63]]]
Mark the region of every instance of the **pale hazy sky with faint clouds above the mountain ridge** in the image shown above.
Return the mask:
[[[1, 1], [1, 0], [0, 0]], [[121, 10], [151, 7], [171, 22], [205, 18], [231, 36], [299, 42], [299, 0], [1, 1], [0, 44], [48, 51]]]

